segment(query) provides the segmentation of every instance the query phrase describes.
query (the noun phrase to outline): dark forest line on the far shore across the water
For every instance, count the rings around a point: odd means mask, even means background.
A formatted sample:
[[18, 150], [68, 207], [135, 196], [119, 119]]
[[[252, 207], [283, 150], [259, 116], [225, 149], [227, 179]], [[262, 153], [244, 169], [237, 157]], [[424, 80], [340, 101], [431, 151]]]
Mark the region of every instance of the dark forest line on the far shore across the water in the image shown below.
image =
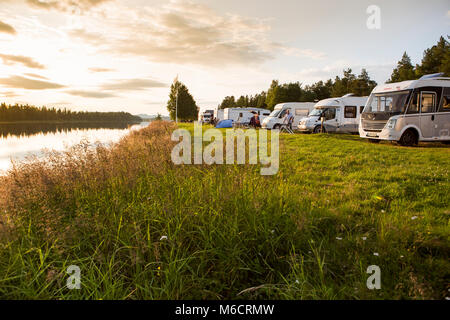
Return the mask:
[[128, 112], [72, 111], [30, 105], [0, 105], [0, 122], [61, 121], [61, 122], [141, 122], [142, 119]]

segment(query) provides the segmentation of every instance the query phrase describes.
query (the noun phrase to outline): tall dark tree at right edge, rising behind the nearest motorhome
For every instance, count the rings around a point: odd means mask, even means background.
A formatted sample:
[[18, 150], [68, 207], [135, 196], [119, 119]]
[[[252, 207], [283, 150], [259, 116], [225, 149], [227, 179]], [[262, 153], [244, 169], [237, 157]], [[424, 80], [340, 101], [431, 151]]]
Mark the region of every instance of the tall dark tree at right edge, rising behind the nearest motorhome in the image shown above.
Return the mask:
[[426, 49], [423, 53], [422, 63], [416, 66], [416, 76], [444, 72], [450, 76], [450, 44], [441, 37], [436, 45]]

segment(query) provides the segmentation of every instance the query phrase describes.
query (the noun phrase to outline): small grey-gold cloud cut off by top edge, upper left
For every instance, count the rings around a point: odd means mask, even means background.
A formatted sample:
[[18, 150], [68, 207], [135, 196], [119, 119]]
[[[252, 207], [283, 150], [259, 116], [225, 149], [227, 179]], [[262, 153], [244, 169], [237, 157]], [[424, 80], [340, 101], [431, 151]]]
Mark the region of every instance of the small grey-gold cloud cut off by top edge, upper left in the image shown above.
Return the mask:
[[34, 8], [80, 13], [110, 0], [26, 0]]

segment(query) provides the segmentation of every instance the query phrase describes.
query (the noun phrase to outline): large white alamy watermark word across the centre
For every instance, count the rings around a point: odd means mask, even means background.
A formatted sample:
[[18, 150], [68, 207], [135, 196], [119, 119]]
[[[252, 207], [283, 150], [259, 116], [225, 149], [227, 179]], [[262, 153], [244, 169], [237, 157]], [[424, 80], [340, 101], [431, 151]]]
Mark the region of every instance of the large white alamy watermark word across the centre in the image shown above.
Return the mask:
[[[174, 164], [245, 164], [248, 149], [248, 164], [261, 166], [261, 175], [274, 175], [278, 172], [279, 130], [270, 134], [270, 155], [267, 130], [227, 129], [224, 135], [219, 129], [207, 129], [203, 132], [201, 124], [194, 124], [194, 152], [192, 154], [192, 137], [186, 129], [177, 129], [172, 133], [172, 141], [179, 142], [172, 150]], [[182, 139], [180, 141], [180, 139]], [[203, 142], [210, 142], [203, 148]], [[248, 144], [246, 143], [248, 141]], [[248, 145], [248, 148], [247, 148]], [[236, 152], [235, 152], [236, 151]], [[236, 160], [235, 160], [236, 153]], [[193, 159], [193, 162], [192, 162]]]

